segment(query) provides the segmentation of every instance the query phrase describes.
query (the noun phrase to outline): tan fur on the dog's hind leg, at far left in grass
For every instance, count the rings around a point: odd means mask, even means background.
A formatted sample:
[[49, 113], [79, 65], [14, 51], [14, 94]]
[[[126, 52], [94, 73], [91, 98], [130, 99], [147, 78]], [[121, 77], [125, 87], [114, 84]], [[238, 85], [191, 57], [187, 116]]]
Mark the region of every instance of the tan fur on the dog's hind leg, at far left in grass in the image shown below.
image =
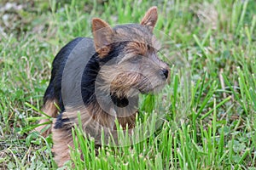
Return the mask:
[[[55, 99], [47, 100], [44, 104], [42, 111], [48, 116], [56, 117], [58, 110], [55, 105], [57, 105], [57, 101]], [[40, 120], [39, 124], [43, 124], [45, 122], [49, 122], [49, 119], [42, 119]], [[39, 126], [35, 130], [41, 133], [42, 136], [46, 137], [49, 135], [49, 133], [51, 133], [51, 127], [49, 127], [46, 131], [44, 131], [44, 133], [42, 133], [43, 128], [46, 126], [47, 125]]]

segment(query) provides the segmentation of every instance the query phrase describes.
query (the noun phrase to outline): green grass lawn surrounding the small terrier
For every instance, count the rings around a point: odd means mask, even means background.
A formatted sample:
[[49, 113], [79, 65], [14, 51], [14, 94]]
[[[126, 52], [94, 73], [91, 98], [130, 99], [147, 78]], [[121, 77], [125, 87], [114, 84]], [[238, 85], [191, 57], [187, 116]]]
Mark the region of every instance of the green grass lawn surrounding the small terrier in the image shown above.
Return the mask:
[[138, 22], [153, 5], [156, 30], [172, 40], [161, 40], [172, 78], [163, 93], [142, 96], [137, 122], [147, 125], [145, 116], [154, 113], [164, 122], [148, 139], [102, 146], [97, 156], [94, 142], [75, 128], [84, 156], [72, 151], [75, 166], [256, 169], [255, 1], [60, 2], [20, 3], [21, 9], [0, 3], [0, 169], [56, 168], [51, 136], [29, 132], [41, 116], [55, 54], [74, 37], [90, 36], [93, 17], [112, 26]]

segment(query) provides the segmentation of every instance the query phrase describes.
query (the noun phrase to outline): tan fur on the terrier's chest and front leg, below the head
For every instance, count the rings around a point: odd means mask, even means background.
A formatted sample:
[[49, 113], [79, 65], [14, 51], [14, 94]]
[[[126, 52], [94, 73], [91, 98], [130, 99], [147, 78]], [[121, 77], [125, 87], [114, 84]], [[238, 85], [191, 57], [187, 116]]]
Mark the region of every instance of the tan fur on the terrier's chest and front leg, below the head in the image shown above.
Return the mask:
[[[118, 134], [114, 131], [116, 130], [114, 123], [115, 118], [118, 119], [123, 129], [125, 129], [126, 126], [131, 129], [135, 125], [136, 113], [127, 117], [114, 117], [102, 111], [100, 105], [90, 105], [86, 109], [83, 107], [74, 110], [67, 108], [67, 112], [63, 113], [63, 118], [69, 118], [70, 122], [65, 124], [65, 129], [52, 128], [54, 143], [52, 151], [54, 152], [58, 167], [62, 167], [66, 161], [70, 160], [69, 147], [73, 147], [71, 127], [73, 127], [73, 124], [79, 125], [79, 113], [84, 132], [92, 136], [95, 141], [101, 141], [102, 128], [104, 129], [106, 139], [108, 139], [110, 135], [113, 136], [113, 139], [117, 139]], [[55, 121], [53, 123], [55, 124]], [[70, 129], [68, 127], [70, 127]], [[129, 133], [131, 133], [131, 130]]]

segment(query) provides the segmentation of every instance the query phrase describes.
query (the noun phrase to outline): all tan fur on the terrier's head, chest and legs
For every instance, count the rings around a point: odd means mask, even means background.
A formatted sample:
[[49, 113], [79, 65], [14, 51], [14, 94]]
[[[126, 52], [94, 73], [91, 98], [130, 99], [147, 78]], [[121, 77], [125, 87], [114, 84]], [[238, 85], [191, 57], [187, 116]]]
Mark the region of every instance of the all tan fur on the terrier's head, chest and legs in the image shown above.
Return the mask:
[[[86, 105], [69, 106], [65, 105], [65, 112], [62, 113], [60, 124], [55, 123], [56, 127], [52, 127], [53, 133], [53, 152], [55, 153], [55, 161], [59, 167], [70, 160], [69, 146], [73, 147], [72, 128], [74, 124], [79, 125], [79, 117], [82, 122], [82, 130], [86, 135], [90, 135], [96, 141], [96, 144], [101, 144], [102, 129], [104, 130], [104, 139], [108, 139], [111, 135], [114, 140], [118, 139], [116, 132], [115, 121], [118, 120], [119, 125], [131, 133], [135, 127], [137, 105], [134, 107], [119, 107], [116, 105], [108, 105], [105, 95], [111, 94], [111, 97], [116, 104], [124, 101], [122, 99], [132, 98], [132, 101], [138, 104], [139, 93], [153, 92], [154, 88], [162, 87], [166, 83], [165, 77], [160, 75], [162, 69], [169, 71], [168, 65], [157, 57], [156, 49], [158, 44], [156, 38], [152, 35], [153, 28], [157, 21], [156, 7], [148, 9], [144, 15], [141, 25], [129, 25], [130, 27], [114, 27], [113, 29], [107, 22], [101, 19], [92, 20], [92, 33], [94, 37], [94, 46], [99, 57], [102, 59], [111, 50], [111, 45], [114, 42], [127, 42], [125, 48], [120, 52], [114, 64], [101, 65], [97, 77], [102, 81], [96, 79], [97, 92], [103, 92], [102, 102], [107, 105], [107, 108], [102, 108], [99, 100], [92, 100]], [[148, 28], [149, 30], [148, 30]], [[127, 29], [128, 28], [128, 29]], [[115, 46], [113, 46], [115, 47]], [[132, 62], [131, 59], [141, 55], [141, 60], [137, 63]], [[137, 59], [137, 58], [136, 58]], [[166, 76], [167, 77], [167, 76]], [[109, 90], [109, 92], [108, 92]], [[105, 92], [106, 91], [106, 92]], [[101, 96], [101, 97], [102, 97]], [[104, 100], [105, 99], [105, 100]], [[108, 100], [108, 101], [111, 101]], [[130, 102], [131, 100], [129, 100]], [[46, 101], [43, 111], [52, 117], [57, 116], [57, 109], [54, 105], [55, 100]], [[128, 102], [128, 103], [129, 103]], [[124, 102], [125, 103], [125, 102]], [[130, 103], [129, 103], [130, 104]], [[108, 110], [108, 111], [106, 111]], [[42, 120], [40, 123], [47, 122]], [[43, 126], [38, 127], [40, 131]], [[44, 135], [48, 135], [48, 130]], [[97, 143], [98, 142], [98, 143]], [[106, 141], [105, 141], [106, 142]]]

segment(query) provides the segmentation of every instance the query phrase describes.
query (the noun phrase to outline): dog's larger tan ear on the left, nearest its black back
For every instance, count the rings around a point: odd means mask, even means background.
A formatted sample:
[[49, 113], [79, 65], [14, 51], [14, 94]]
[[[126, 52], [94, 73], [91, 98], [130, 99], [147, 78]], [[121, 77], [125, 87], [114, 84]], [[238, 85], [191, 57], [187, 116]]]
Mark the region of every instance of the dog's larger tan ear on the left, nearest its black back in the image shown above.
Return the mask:
[[96, 52], [100, 57], [106, 56], [110, 50], [108, 45], [112, 42], [113, 30], [107, 22], [98, 18], [94, 18], [91, 25]]

